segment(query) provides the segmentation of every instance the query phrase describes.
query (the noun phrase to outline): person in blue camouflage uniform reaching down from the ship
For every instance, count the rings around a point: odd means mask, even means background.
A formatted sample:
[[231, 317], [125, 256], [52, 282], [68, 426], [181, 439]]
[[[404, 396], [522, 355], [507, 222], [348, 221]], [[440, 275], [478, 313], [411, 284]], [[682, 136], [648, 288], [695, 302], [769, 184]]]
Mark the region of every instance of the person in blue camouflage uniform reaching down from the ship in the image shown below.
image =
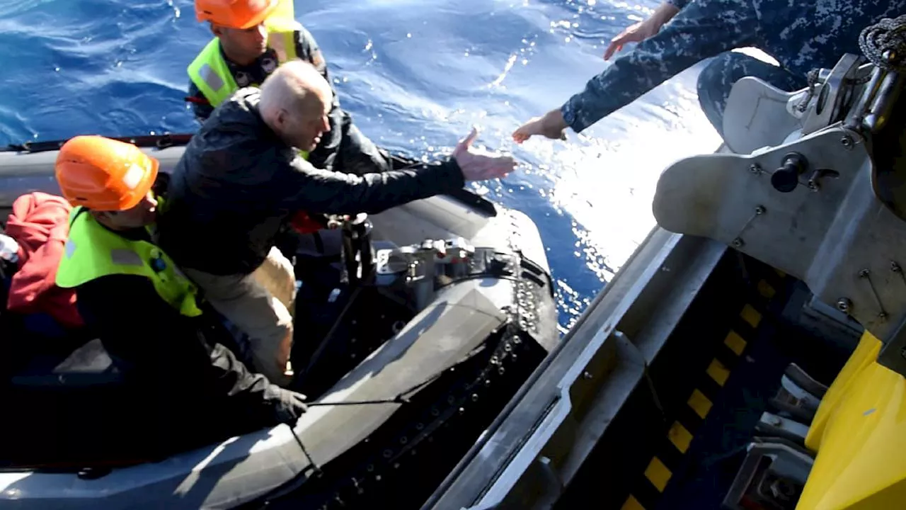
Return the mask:
[[[633, 25], [618, 35], [614, 51], [622, 44], [641, 42], [559, 109], [516, 129], [513, 139], [521, 143], [540, 134], [564, 140], [566, 127], [582, 132], [690, 66], [736, 48], [754, 46], [773, 56], [780, 67], [758, 65], [756, 58], [746, 55], [718, 59], [702, 72], [707, 81], [699, 82], [699, 94], [708, 96], [702, 104], [713, 112], [708, 118], [720, 131], [729, 90], [746, 73], [795, 90], [804, 86], [805, 75], [813, 68], [833, 67], [844, 53], [861, 54], [858, 37], [865, 26], [906, 12], [906, 0], [670, 0], [670, 4], [655, 13], [666, 16], [679, 9], [670, 22], [651, 35], [647, 33], [655, 32], [660, 19], [645, 27]], [[703, 90], [708, 94], [701, 94]]]

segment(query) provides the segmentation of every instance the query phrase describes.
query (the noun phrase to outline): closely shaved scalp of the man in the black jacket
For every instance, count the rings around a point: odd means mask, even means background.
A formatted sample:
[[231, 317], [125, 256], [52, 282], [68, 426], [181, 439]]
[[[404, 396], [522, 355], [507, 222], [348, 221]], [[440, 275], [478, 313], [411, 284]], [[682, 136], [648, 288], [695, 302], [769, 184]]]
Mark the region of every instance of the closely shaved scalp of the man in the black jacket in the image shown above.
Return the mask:
[[261, 83], [258, 111], [265, 117], [271, 117], [280, 110], [305, 114], [312, 110], [311, 95], [319, 91], [330, 101], [330, 83], [312, 64], [294, 59], [277, 67]]

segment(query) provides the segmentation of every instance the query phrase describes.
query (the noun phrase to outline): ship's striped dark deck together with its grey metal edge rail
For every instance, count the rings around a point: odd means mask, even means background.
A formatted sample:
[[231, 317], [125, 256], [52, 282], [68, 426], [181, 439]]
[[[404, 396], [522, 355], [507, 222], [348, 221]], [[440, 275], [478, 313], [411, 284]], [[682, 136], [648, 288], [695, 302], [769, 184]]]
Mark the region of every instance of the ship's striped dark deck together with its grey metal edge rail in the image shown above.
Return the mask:
[[719, 508], [788, 365], [828, 385], [858, 342], [810, 297], [652, 230], [422, 510]]

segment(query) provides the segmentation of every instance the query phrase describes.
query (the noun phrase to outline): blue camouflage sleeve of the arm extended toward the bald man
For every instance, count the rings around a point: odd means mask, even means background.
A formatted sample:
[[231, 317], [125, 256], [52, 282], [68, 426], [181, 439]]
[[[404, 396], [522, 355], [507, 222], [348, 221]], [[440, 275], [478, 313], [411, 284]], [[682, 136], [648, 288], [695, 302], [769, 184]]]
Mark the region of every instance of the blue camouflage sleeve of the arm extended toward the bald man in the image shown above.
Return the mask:
[[700, 61], [757, 44], [757, 17], [746, 0], [691, 0], [658, 34], [613, 61], [563, 106], [574, 132], [597, 123]]

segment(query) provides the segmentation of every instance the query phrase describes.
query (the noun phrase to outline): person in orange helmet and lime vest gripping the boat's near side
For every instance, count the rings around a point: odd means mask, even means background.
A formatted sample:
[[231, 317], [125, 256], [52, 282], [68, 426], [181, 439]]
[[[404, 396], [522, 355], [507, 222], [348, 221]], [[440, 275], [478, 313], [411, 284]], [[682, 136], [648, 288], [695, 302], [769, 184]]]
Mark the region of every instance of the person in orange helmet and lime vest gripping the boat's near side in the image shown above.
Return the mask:
[[304, 396], [250, 372], [217, 341], [226, 329], [151, 241], [155, 184], [166, 183], [158, 171], [135, 145], [95, 135], [65, 142], [55, 165], [73, 206], [56, 283], [75, 289], [86, 325], [130, 381], [137, 404], [115, 412], [155, 454], [294, 423]]

